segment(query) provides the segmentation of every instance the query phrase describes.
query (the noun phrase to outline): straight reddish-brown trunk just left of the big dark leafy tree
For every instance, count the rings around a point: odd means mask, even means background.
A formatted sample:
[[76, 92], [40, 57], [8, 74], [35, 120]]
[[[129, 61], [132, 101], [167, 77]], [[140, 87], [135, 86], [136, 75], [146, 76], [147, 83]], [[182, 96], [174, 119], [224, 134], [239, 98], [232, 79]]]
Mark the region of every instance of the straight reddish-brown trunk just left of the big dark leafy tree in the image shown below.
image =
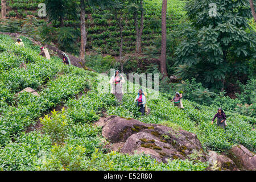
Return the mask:
[[166, 69], [166, 13], [167, 13], [167, 0], [163, 0], [162, 5], [162, 46], [160, 55], [160, 71], [167, 76]]

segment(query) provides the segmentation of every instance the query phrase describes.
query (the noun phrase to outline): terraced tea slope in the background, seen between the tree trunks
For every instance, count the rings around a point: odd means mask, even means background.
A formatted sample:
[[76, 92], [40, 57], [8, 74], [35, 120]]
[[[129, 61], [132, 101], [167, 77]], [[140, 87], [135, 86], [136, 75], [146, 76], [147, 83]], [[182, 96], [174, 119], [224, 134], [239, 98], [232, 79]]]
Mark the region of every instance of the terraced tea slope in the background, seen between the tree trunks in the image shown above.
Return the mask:
[[[0, 27], [1, 31], [11, 29], [15, 32], [23, 32], [34, 38], [42, 39], [41, 41], [49, 41], [59, 44], [60, 48], [64, 48], [72, 53], [79, 53], [80, 42], [80, 21], [67, 19], [65, 27], [61, 28], [46, 28], [46, 20], [38, 16], [38, 4], [44, 0], [10, 0], [7, 2], [7, 20], [8, 27]], [[185, 11], [183, 7], [185, 1], [170, 0], [168, 1], [167, 10], [167, 31], [176, 30], [181, 22], [185, 21]], [[162, 1], [160, 0], [145, 0], [144, 1], [144, 29], [142, 35], [142, 47], [154, 46], [155, 42], [161, 36], [161, 10]], [[34, 17], [34, 18], [31, 18]], [[134, 53], [136, 44], [136, 28], [134, 26], [133, 15], [125, 16], [125, 26], [123, 27], [123, 52]], [[91, 6], [86, 6], [86, 31], [88, 32], [88, 43], [86, 49], [94, 50], [100, 53], [109, 55], [119, 55], [120, 32], [117, 22], [113, 15], [109, 14], [108, 10], [93, 9]], [[56, 22], [55, 27], [59, 26]], [[40, 28], [42, 26], [42, 28]], [[10, 28], [13, 27], [13, 28]], [[36, 31], [35, 31], [36, 30]], [[167, 32], [167, 33], [168, 33]], [[37, 35], [35, 35], [37, 34]], [[42, 35], [39, 35], [42, 34]], [[54, 34], [54, 36], [53, 36]], [[67, 46], [67, 43], [58, 42], [58, 39], [63, 39], [63, 42], [68, 42], [72, 46]]]

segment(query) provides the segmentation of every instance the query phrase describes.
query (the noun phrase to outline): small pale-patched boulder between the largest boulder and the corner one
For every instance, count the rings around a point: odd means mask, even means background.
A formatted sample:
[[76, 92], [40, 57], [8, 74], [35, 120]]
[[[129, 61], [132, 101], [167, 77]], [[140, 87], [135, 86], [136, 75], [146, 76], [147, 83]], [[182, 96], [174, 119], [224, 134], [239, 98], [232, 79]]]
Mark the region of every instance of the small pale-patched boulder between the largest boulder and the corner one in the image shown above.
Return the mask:
[[225, 171], [237, 171], [238, 168], [233, 160], [229, 159], [225, 155], [218, 154], [215, 151], [209, 151], [209, 159], [208, 162], [211, 166], [213, 166], [214, 162], [217, 160], [218, 169]]

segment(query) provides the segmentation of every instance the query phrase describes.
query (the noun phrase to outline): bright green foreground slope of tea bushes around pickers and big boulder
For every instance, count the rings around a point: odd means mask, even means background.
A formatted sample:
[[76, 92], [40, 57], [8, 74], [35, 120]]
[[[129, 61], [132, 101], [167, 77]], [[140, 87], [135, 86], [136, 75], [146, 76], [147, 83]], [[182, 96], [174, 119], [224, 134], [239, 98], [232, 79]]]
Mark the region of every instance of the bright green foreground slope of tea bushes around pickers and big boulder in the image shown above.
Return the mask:
[[[224, 133], [210, 125], [216, 108], [184, 100], [185, 109], [180, 110], [162, 94], [157, 100], [148, 100], [151, 113], [142, 117], [134, 104], [135, 94], [126, 93], [123, 105], [118, 106], [112, 94], [97, 89], [109, 78], [64, 65], [57, 57], [44, 59], [38, 56], [38, 46], [26, 37], [22, 39], [26, 48], [16, 47], [14, 39], [0, 35], [2, 170], [204, 170], [209, 166], [192, 158], [164, 164], [148, 155], [110, 152], [104, 147], [108, 142], [101, 128], [94, 125], [104, 115], [190, 131], [197, 135], [205, 152], [225, 152], [234, 144], [255, 152], [256, 135], [251, 125], [255, 118], [226, 112], [228, 127]], [[20, 68], [21, 63], [26, 63], [27, 69]], [[16, 94], [28, 87], [40, 96]], [[139, 86], [134, 87], [137, 92]], [[42, 128], [33, 129], [38, 123]]]

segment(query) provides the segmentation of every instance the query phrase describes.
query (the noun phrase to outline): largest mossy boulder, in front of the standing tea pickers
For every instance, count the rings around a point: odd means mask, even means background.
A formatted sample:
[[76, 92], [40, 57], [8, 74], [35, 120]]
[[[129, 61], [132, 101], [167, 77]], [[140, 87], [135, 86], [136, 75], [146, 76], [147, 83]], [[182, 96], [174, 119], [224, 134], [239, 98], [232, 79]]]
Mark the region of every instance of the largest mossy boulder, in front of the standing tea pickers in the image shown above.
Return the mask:
[[190, 159], [207, 162], [199, 139], [193, 133], [170, 127], [147, 124], [131, 118], [110, 116], [99, 121], [102, 135], [112, 143], [121, 143], [119, 151], [125, 154], [149, 154], [159, 162], [167, 159]]

